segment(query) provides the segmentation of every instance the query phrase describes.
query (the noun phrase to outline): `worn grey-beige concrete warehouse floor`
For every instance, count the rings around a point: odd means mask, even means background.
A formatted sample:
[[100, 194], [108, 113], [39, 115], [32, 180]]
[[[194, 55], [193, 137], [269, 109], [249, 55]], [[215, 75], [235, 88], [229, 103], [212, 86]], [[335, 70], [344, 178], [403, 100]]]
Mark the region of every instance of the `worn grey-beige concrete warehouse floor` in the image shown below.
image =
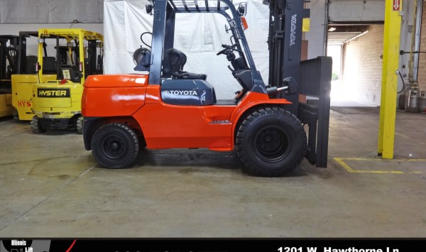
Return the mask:
[[249, 177], [234, 153], [144, 150], [99, 168], [69, 131], [0, 119], [0, 237], [426, 237], [426, 115], [398, 111], [377, 158], [378, 109], [333, 107], [328, 168]]

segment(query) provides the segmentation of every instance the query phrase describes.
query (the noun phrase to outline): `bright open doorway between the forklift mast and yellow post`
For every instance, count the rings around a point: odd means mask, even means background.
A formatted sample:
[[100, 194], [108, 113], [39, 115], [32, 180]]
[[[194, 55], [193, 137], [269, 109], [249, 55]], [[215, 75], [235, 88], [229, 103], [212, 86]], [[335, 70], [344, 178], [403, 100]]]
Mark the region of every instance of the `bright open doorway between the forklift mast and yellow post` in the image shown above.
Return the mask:
[[329, 25], [331, 106], [380, 106], [383, 25]]

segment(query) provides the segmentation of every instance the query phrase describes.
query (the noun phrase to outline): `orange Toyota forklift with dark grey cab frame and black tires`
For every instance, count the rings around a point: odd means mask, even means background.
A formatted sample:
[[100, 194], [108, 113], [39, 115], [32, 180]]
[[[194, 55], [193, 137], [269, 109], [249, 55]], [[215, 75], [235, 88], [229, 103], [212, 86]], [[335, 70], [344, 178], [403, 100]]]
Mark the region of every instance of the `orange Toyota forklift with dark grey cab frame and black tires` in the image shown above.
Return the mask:
[[[238, 8], [231, 0], [148, 3], [146, 10], [153, 14], [151, 48], [138, 49], [133, 55], [137, 62], [135, 70], [148, 74], [93, 75], [84, 82], [82, 114], [86, 150], [92, 150], [94, 158], [105, 168], [133, 165], [139, 149], [144, 147], [236, 149], [244, 172], [266, 177], [284, 175], [305, 156], [316, 163], [317, 119], [318, 111], [322, 110], [318, 108], [324, 99], [320, 97], [320, 102], [305, 104], [303, 108], [297, 99], [302, 94], [315, 96], [315, 92], [305, 91], [310, 91], [310, 85], [320, 80], [329, 85], [331, 61], [324, 69], [321, 69], [324, 64], [309, 62], [306, 70], [299, 71], [302, 18], [309, 11], [303, 9], [303, 1], [273, 2], [266, 2], [271, 6], [271, 16], [275, 16], [271, 18], [268, 42], [271, 57], [276, 59], [273, 64], [281, 70], [273, 73], [271, 78], [279, 80], [270, 85], [263, 82], [256, 70], [244, 35], [245, 3]], [[298, 13], [292, 13], [295, 11]], [[226, 18], [231, 44], [222, 45], [223, 50], [217, 55], [226, 56], [230, 62], [229, 75], [241, 84], [235, 99], [216, 99], [207, 75], [183, 69], [186, 55], [173, 48], [175, 16], [180, 13], [219, 13]], [[297, 67], [289, 66], [293, 72], [283, 73], [289, 61]], [[321, 76], [321, 72], [325, 74]], [[301, 89], [305, 91], [300, 92]], [[309, 141], [304, 124], [313, 128]], [[323, 138], [319, 137], [318, 141], [323, 143]], [[317, 166], [327, 165], [325, 147], [325, 163], [322, 161]]]

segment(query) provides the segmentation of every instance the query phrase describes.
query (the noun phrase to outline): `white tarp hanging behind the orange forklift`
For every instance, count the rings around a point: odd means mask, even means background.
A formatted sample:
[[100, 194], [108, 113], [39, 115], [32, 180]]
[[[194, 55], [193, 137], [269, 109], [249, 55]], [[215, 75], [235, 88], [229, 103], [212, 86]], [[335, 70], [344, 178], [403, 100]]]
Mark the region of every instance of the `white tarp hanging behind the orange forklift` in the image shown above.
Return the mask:
[[[256, 68], [264, 82], [268, 82], [268, 23], [269, 7], [263, 0], [247, 2], [245, 31]], [[234, 1], [238, 6], [241, 1]], [[153, 16], [146, 13], [146, 0], [104, 1], [104, 72], [131, 73], [135, 63], [133, 52], [142, 44], [140, 36], [152, 31]], [[207, 81], [214, 86], [217, 99], [233, 99], [241, 89], [227, 68], [230, 63], [225, 55], [216, 55], [222, 44], [230, 45], [231, 33], [225, 32], [224, 16], [213, 13], [176, 14], [175, 41], [173, 47], [187, 55], [184, 70], [207, 74]], [[143, 39], [151, 45], [151, 35]], [[144, 45], [143, 47], [146, 48]]]

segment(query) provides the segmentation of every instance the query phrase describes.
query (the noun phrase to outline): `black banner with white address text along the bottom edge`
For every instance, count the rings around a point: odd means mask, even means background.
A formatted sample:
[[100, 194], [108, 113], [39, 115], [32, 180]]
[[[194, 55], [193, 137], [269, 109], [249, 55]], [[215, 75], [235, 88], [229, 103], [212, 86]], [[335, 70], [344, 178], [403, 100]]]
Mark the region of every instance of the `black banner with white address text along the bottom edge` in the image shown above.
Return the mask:
[[413, 252], [426, 239], [3, 239], [0, 252]]

